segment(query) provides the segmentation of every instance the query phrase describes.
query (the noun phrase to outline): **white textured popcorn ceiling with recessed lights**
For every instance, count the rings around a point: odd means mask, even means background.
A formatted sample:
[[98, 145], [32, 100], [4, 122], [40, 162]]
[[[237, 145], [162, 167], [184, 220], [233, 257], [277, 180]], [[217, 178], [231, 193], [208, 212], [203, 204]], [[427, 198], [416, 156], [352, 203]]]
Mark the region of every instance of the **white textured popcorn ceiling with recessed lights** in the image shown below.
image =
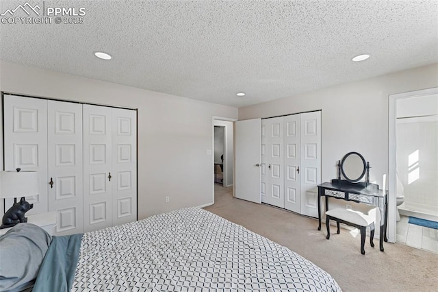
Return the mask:
[[[438, 1], [27, 2], [86, 15], [1, 23], [1, 60], [228, 106], [438, 62]], [[25, 3], [1, 0], [0, 18]]]

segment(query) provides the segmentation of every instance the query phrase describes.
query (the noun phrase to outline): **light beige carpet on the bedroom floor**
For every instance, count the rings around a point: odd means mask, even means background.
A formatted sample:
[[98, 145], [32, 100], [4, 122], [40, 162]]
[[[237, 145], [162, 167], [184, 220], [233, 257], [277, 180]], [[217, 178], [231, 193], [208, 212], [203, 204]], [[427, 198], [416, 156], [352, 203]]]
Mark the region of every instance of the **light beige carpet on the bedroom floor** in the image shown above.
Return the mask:
[[384, 243], [385, 252], [365, 243], [348, 230], [330, 240], [326, 228], [318, 231], [318, 220], [232, 196], [232, 188], [215, 184], [215, 204], [205, 208], [288, 247], [329, 272], [344, 291], [438, 291], [438, 254], [402, 244]]

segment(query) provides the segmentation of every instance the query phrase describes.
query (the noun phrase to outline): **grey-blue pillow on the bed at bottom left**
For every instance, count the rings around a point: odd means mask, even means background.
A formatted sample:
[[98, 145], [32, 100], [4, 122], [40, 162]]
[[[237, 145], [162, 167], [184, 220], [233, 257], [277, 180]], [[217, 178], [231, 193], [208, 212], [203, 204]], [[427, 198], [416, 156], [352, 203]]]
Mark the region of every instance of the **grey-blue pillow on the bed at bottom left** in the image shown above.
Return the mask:
[[0, 236], [0, 291], [33, 286], [52, 237], [31, 223], [18, 223]]

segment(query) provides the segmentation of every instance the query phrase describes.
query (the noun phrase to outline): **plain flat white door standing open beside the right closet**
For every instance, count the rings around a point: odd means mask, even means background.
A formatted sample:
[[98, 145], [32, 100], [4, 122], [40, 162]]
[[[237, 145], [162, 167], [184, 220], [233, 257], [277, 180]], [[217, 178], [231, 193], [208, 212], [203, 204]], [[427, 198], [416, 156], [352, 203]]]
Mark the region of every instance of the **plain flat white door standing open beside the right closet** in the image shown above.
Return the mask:
[[235, 122], [235, 197], [261, 203], [261, 119]]

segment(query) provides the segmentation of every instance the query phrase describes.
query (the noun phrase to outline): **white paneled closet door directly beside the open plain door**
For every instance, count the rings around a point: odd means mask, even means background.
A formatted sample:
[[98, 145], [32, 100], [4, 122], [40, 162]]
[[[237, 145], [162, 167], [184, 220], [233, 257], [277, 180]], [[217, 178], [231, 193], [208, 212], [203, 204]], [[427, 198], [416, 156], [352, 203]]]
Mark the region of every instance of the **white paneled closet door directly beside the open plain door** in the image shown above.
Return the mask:
[[261, 202], [284, 208], [283, 117], [261, 125]]

